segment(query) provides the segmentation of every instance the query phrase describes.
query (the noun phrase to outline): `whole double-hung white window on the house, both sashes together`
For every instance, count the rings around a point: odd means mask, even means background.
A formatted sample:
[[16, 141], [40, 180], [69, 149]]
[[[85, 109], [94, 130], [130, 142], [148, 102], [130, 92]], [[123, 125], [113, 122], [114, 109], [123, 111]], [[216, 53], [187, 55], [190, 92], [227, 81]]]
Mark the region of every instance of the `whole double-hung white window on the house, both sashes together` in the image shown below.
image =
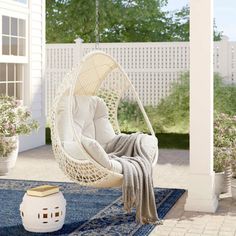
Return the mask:
[[[14, 0], [15, 1], [15, 0]], [[28, 3], [28, 1], [16, 1]], [[22, 16], [24, 17], [24, 16]], [[27, 77], [27, 17], [0, 15], [0, 95], [24, 100]]]

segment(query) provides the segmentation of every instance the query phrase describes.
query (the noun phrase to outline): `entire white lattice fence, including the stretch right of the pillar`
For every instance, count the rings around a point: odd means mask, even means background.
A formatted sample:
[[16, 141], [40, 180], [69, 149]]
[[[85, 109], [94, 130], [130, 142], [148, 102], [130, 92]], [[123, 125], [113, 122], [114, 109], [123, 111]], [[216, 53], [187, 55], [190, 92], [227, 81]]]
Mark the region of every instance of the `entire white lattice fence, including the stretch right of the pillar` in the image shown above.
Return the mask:
[[[100, 43], [99, 49], [114, 57], [129, 75], [144, 105], [157, 105], [166, 97], [171, 84], [189, 70], [189, 43]], [[46, 66], [47, 114], [56, 89], [64, 75], [88, 52], [94, 44], [48, 44]], [[224, 39], [215, 43], [214, 70], [226, 82], [236, 80], [236, 42]], [[129, 92], [127, 99], [132, 99]]]

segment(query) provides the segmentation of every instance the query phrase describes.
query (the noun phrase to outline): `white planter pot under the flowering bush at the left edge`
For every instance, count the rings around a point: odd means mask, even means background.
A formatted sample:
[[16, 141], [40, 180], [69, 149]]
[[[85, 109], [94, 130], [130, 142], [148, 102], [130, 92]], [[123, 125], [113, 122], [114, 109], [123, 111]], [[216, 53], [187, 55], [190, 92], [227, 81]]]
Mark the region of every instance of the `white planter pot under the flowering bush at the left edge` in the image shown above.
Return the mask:
[[7, 175], [8, 172], [15, 166], [16, 159], [19, 150], [19, 139], [18, 137], [5, 137], [4, 139], [14, 139], [16, 142], [16, 149], [11, 152], [7, 157], [0, 156], [0, 176]]

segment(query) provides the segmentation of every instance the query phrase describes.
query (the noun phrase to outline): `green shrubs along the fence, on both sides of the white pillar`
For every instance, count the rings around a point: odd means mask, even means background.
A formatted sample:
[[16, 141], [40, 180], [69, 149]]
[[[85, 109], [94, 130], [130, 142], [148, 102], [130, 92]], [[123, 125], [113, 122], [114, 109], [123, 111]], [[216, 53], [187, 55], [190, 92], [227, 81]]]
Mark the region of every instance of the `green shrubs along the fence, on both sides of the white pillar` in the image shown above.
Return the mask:
[[[156, 133], [189, 132], [189, 74], [185, 73], [172, 84], [171, 93], [158, 106], [145, 106]], [[225, 84], [220, 75], [214, 75], [214, 109], [217, 113], [236, 114], [236, 85]], [[121, 101], [118, 119], [122, 131], [148, 132], [137, 103]]]

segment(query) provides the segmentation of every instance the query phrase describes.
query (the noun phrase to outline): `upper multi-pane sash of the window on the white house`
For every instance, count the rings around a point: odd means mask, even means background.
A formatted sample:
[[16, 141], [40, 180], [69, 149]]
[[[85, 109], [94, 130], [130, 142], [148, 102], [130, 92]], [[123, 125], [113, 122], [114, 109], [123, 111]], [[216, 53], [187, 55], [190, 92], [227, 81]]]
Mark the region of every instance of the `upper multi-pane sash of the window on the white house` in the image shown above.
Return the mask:
[[2, 55], [26, 56], [24, 19], [2, 16]]

